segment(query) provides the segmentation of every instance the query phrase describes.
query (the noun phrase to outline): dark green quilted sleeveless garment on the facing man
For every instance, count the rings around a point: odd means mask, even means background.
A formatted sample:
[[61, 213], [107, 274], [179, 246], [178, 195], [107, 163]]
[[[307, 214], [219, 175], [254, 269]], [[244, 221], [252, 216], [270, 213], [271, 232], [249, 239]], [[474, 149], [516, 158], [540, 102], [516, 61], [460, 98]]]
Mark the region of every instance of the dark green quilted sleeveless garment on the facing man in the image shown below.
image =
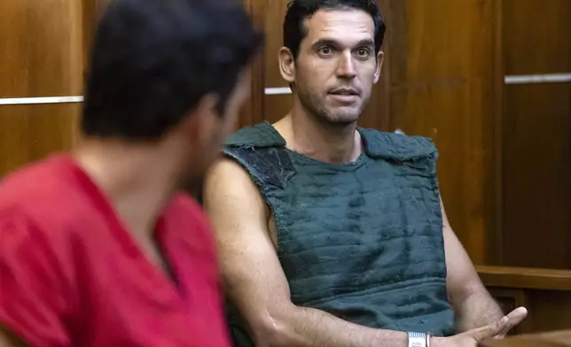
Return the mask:
[[[434, 144], [359, 132], [365, 152], [347, 165], [287, 150], [268, 123], [243, 128], [224, 152], [275, 216], [294, 305], [371, 328], [452, 335]], [[229, 316], [236, 345], [253, 345], [232, 307]]]

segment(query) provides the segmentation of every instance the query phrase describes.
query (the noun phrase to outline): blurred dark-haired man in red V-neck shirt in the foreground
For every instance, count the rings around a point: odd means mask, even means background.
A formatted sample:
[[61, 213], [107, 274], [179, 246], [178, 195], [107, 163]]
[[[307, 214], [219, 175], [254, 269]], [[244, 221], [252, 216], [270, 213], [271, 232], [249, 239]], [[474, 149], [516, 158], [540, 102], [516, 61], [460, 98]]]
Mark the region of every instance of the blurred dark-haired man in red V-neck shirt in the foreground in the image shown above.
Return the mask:
[[229, 345], [215, 243], [177, 187], [232, 130], [261, 42], [233, 1], [109, 5], [82, 143], [0, 184], [0, 346]]

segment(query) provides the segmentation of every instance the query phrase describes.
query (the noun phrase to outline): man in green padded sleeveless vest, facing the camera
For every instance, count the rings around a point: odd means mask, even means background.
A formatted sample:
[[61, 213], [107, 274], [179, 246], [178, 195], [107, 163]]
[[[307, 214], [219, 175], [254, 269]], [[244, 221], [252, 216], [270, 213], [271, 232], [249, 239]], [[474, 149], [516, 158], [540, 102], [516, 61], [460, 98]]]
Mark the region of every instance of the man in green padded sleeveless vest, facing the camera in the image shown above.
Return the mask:
[[356, 126], [379, 80], [371, 0], [293, 0], [293, 108], [233, 135], [204, 204], [237, 346], [475, 346], [504, 316], [450, 228], [423, 137]]

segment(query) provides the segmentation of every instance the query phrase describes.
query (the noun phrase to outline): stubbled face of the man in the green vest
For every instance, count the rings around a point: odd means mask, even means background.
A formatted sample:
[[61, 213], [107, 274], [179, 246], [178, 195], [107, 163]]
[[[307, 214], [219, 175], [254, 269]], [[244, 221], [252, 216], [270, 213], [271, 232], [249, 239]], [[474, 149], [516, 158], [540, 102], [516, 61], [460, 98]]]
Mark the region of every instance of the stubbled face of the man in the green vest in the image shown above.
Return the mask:
[[321, 10], [305, 24], [293, 68], [295, 93], [321, 120], [351, 124], [379, 80], [382, 53], [375, 53], [372, 17], [358, 10]]

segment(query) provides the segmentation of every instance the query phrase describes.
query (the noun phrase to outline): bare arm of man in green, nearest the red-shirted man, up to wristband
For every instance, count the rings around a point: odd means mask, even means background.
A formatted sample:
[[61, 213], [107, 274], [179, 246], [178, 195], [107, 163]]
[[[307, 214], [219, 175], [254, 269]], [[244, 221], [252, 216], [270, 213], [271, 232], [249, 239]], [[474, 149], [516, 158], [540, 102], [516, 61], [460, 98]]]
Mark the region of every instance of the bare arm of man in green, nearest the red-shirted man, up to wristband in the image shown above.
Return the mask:
[[293, 305], [269, 231], [269, 211], [244, 169], [229, 159], [209, 174], [204, 204], [213, 223], [225, 289], [257, 346], [405, 347], [403, 332], [366, 328]]

